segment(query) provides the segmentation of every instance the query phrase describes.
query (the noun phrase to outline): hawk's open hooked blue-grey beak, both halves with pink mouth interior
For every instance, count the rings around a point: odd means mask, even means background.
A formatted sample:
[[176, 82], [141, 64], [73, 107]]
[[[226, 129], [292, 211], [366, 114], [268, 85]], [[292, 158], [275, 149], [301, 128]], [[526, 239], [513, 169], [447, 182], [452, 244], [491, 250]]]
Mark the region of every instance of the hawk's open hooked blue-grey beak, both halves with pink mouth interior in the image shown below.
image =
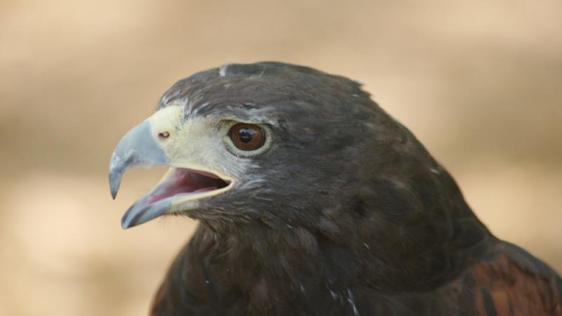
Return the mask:
[[170, 166], [164, 178], [124, 213], [122, 228], [131, 228], [164, 214], [197, 207], [200, 199], [226, 192], [234, 183], [228, 176], [218, 176], [218, 173], [202, 170], [201, 167], [172, 166], [174, 162], [166, 157], [155, 139], [157, 133], [153, 132], [150, 119], [143, 121], [125, 134], [111, 157], [109, 180], [113, 199], [117, 197], [123, 173], [127, 169]]

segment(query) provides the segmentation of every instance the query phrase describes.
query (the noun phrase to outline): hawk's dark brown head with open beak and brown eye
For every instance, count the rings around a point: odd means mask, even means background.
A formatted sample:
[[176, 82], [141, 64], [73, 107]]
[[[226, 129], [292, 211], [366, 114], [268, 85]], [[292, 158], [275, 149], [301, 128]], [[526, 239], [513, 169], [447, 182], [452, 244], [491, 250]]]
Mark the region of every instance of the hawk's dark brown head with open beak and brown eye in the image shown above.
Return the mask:
[[232, 64], [164, 93], [115, 148], [110, 189], [115, 198], [127, 169], [169, 166], [123, 228], [174, 214], [329, 230], [322, 218], [362, 216], [385, 187], [407, 195], [399, 179], [420, 162], [424, 174], [438, 168], [357, 82], [277, 62]]

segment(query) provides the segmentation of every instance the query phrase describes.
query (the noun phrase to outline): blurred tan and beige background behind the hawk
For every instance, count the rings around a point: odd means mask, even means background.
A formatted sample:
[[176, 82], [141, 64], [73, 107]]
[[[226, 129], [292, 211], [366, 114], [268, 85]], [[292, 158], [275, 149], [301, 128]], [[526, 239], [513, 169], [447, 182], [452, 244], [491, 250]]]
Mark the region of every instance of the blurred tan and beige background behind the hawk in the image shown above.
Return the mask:
[[562, 1], [0, 1], [0, 315], [145, 315], [196, 223], [119, 220], [117, 141], [182, 77], [280, 60], [343, 74], [478, 216], [562, 271]]

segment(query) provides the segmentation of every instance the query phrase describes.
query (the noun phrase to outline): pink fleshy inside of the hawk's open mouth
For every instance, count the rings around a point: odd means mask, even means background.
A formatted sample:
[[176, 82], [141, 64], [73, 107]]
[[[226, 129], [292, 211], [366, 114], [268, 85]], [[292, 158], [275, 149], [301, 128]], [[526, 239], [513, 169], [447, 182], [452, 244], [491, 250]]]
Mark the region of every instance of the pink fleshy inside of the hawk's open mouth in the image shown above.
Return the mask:
[[165, 180], [148, 193], [148, 203], [158, 202], [174, 195], [192, 195], [198, 192], [226, 187], [228, 183], [218, 176], [204, 171], [172, 168]]

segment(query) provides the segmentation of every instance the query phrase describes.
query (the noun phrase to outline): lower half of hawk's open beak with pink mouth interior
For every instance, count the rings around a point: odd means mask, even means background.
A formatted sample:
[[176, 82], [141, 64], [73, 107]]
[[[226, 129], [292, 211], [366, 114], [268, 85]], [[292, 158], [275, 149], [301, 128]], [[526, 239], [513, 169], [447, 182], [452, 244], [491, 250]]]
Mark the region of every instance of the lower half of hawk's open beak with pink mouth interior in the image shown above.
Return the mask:
[[171, 167], [164, 178], [123, 215], [122, 227], [131, 228], [164, 214], [176, 213], [179, 204], [197, 204], [221, 195], [234, 185], [233, 179], [216, 173]]

